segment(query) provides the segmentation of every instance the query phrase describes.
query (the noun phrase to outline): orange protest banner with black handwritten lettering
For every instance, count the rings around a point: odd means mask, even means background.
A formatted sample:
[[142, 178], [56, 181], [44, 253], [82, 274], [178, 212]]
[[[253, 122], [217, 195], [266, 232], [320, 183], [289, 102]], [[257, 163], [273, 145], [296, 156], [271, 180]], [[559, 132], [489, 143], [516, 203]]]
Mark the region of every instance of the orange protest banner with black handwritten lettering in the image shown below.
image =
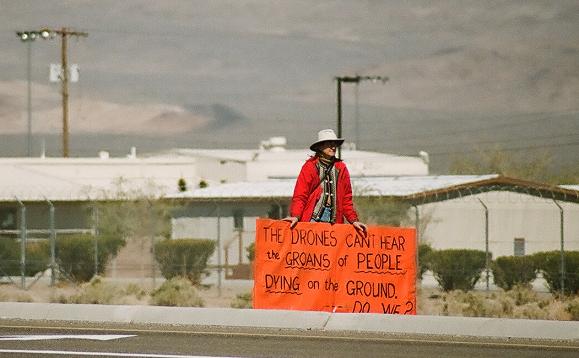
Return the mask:
[[416, 314], [416, 231], [258, 219], [253, 307]]

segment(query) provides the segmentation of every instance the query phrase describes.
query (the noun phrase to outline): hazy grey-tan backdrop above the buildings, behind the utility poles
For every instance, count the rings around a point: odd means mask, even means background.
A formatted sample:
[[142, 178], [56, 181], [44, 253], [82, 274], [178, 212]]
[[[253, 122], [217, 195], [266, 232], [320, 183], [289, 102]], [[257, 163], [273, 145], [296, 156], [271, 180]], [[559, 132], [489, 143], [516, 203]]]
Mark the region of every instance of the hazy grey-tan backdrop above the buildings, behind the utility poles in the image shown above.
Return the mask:
[[[357, 97], [343, 91], [345, 134], [381, 150], [415, 152], [436, 144], [428, 133], [492, 128], [502, 114], [524, 123], [579, 110], [577, 1], [0, 0], [5, 128], [24, 128], [26, 45], [15, 31], [44, 26], [89, 33], [69, 46], [81, 67], [77, 131], [180, 131], [230, 146], [286, 135], [302, 146], [335, 126], [333, 78], [353, 74], [390, 78], [361, 84]], [[58, 39], [32, 45], [35, 117], [46, 118], [37, 128], [53, 133], [59, 95], [47, 68], [59, 61]], [[579, 130], [570, 123], [547, 134]], [[416, 146], [388, 144], [416, 133]]]

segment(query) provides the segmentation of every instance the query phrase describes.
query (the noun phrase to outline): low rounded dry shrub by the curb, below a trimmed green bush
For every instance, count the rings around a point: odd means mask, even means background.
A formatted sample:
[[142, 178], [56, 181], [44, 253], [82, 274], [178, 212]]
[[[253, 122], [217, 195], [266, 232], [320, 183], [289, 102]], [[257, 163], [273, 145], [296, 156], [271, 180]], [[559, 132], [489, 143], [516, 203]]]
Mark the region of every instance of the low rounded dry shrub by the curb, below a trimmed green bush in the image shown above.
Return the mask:
[[151, 294], [155, 306], [203, 307], [205, 303], [191, 281], [184, 277], [173, 277]]

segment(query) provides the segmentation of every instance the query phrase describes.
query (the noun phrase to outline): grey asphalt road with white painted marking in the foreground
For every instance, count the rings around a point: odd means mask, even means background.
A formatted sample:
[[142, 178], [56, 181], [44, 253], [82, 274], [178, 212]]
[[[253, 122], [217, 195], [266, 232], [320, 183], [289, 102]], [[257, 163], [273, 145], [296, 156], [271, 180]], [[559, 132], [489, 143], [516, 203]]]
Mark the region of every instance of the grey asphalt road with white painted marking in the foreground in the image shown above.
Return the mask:
[[351, 332], [329, 334], [279, 329], [0, 321], [0, 356], [576, 358], [579, 357], [579, 343]]

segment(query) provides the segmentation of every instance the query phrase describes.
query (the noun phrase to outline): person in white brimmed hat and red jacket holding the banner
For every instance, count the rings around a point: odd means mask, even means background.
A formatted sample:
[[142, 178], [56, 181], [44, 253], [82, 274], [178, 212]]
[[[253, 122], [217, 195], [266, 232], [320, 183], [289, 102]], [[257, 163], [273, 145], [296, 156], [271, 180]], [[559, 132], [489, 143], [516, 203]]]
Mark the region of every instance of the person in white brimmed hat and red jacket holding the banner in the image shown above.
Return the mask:
[[336, 158], [336, 148], [344, 143], [333, 130], [318, 132], [310, 146], [315, 154], [302, 166], [290, 206], [283, 220], [293, 228], [299, 221], [344, 223], [344, 218], [366, 236], [366, 225], [358, 221], [352, 201], [352, 184], [346, 164]]

